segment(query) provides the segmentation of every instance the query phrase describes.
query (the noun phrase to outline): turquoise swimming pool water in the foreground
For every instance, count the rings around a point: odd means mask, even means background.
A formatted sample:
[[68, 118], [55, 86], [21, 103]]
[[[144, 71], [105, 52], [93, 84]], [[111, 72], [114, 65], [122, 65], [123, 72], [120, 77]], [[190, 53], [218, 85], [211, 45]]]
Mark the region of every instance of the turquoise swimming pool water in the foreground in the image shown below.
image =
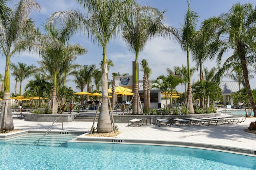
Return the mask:
[[59, 147], [0, 141], [0, 169], [256, 169], [256, 157], [155, 145], [68, 142]]

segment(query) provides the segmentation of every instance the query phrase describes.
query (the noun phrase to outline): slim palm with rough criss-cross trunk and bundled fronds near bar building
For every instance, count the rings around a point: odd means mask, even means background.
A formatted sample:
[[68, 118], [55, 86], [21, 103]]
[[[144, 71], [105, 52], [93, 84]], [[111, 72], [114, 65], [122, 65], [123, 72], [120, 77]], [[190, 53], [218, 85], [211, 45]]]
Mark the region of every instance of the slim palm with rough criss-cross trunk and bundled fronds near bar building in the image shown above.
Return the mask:
[[148, 66], [146, 59], [140, 62], [141, 71], [144, 72], [143, 75], [143, 93], [144, 93], [144, 109], [150, 108], [150, 82], [149, 76], [152, 73], [151, 68]]

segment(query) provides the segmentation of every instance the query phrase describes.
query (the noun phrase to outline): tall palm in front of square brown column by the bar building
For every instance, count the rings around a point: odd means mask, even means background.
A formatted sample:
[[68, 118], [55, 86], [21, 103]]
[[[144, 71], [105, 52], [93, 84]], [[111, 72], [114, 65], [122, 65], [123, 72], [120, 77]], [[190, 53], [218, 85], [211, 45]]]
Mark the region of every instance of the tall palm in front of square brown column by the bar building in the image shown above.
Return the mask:
[[160, 35], [161, 31], [166, 29], [163, 23], [164, 19], [164, 12], [160, 12], [160, 10], [150, 6], [139, 6], [138, 4], [135, 4], [134, 8], [125, 18], [122, 37], [129, 46], [130, 51], [135, 53], [132, 114], [140, 113], [138, 103], [138, 55], [150, 39]]

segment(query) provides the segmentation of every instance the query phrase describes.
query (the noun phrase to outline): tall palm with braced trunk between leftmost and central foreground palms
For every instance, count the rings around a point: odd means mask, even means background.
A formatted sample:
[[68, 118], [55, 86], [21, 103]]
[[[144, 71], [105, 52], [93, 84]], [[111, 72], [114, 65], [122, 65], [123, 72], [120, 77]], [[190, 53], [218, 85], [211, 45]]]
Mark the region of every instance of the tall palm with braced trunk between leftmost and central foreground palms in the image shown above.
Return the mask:
[[59, 42], [59, 46], [57, 48], [52, 46], [51, 43], [48, 43], [48, 48], [40, 51], [44, 64], [48, 70], [50, 70], [50, 74], [54, 77], [50, 108], [52, 109], [52, 114], [56, 114], [58, 105], [60, 104], [60, 100], [56, 95], [57, 76], [61, 70], [63, 72], [64, 64], [67, 63], [65, 59], [66, 57], [71, 57], [69, 62], [74, 61], [72, 58], [76, 58], [76, 55], [86, 54], [87, 50], [84, 49], [84, 47], [82, 47], [80, 44], [69, 44], [70, 38], [77, 31], [77, 25], [75, 22], [68, 20], [62, 23], [60, 27], [57, 27], [53, 22], [48, 20], [48, 23], [45, 23], [43, 26], [46, 34]]

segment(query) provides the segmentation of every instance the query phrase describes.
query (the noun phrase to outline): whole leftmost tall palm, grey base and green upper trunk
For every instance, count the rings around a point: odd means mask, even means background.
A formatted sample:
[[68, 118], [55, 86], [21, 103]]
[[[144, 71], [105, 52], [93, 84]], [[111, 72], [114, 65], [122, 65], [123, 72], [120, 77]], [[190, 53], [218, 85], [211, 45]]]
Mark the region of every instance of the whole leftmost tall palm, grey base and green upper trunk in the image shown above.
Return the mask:
[[[5, 7], [5, 2], [1, 1], [0, 4]], [[15, 5], [14, 10], [11, 11], [7, 7], [0, 8], [0, 51], [6, 58], [0, 131], [3, 128], [6, 128], [6, 130], [13, 130], [14, 128], [10, 102], [10, 58], [20, 51], [32, 49], [31, 44], [35, 40], [36, 29], [29, 16], [32, 10], [39, 11], [41, 9], [40, 5], [34, 0], [20, 0]], [[10, 14], [8, 18], [2, 18], [5, 10], [8, 12], [6, 13], [7, 16]]]

